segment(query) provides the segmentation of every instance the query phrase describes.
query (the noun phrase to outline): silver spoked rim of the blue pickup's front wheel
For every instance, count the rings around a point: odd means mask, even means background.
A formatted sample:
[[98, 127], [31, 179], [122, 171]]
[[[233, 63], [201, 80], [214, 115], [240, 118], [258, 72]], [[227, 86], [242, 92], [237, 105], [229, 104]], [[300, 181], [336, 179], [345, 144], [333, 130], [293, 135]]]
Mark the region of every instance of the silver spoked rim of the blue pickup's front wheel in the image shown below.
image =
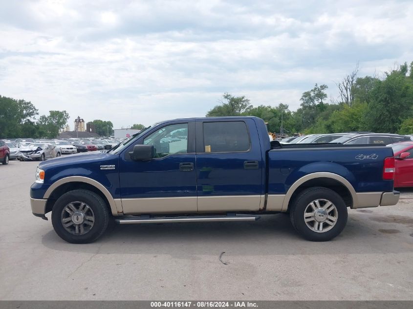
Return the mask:
[[61, 222], [70, 234], [83, 235], [93, 227], [95, 215], [86, 203], [71, 202], [63, 208]]

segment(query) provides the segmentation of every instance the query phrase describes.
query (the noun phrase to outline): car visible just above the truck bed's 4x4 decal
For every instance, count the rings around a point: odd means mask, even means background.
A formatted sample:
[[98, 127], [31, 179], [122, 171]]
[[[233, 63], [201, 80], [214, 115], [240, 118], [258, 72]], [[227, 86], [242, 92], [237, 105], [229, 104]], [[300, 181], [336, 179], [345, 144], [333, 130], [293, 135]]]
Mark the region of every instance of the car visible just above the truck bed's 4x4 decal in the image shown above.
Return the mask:
[[330, 143], [339, 143], [345, 145], [351, 144], [393, 144], [397, 142], [410, 141], [410, 138], [404, 135], [388, 133], [367, 133], [367, 134], [348, 134]]

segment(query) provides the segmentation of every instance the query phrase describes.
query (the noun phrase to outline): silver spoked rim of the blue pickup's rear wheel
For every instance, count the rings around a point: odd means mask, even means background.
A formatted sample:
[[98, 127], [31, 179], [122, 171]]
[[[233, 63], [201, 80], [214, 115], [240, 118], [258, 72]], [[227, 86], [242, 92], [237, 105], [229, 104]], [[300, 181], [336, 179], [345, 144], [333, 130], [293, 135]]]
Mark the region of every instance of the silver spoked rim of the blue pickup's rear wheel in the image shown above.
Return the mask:
[[325, 199], [312, 201], [305, 207], [304, 222], [312, 231], [324, 233], [333, 228], [338, 219], [337, 207]]

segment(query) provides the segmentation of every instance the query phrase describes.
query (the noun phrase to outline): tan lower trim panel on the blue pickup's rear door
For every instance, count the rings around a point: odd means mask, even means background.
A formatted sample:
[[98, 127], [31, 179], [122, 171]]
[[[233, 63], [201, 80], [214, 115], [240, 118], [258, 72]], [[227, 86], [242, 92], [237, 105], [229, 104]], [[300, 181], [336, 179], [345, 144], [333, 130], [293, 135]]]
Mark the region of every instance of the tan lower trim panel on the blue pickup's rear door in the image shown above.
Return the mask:
[[259, 211], [260, 203], [261, 195], [201, 196], [198, 197], [198, 211]]

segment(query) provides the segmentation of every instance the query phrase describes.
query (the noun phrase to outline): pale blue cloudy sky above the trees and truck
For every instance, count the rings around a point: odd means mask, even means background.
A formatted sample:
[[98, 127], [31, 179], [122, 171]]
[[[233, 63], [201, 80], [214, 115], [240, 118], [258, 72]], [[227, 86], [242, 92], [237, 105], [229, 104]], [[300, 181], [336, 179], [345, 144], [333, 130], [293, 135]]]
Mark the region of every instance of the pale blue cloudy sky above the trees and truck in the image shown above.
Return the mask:
[[[289, 104], [314, 83], [413, 61], [413, 1], [0, 0], [0, 95], [135, 123], [200, 117], [224, 92]], [[73, 129], [73, 128], [72, 128]]]

